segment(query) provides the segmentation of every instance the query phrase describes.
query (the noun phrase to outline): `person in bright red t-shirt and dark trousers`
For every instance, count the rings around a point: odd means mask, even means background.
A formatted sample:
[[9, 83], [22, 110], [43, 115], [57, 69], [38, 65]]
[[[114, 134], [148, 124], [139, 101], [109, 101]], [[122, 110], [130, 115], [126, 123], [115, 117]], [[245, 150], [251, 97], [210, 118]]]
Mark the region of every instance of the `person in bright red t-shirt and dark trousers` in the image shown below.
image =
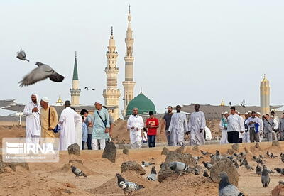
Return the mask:
[[154, 117], [154, 112], [149, 111], [150, 118], [146, 121], [147, 138], [149, 148], [155, 147], [155, 136], [157, 135], [157, 129], [159, 127], [159, 120]]

